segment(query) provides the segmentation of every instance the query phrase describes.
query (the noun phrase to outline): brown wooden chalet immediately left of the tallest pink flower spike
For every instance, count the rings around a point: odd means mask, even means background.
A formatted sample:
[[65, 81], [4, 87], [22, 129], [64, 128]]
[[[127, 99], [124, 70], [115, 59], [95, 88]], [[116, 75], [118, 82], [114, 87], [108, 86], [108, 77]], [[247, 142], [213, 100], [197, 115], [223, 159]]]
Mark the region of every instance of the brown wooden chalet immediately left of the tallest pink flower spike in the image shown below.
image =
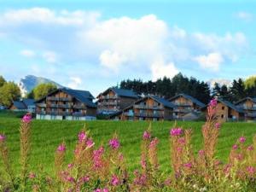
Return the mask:
[[186, 119], [186, 117], [189, 116], [189, 113], [193, 113], [194, 115], [197, 114], [199, 116], [201, 108], [206, 106], [194, 97], [185, 94], [173, 96], [169, 101], [176, 106], [173, 110], [174, 119]]

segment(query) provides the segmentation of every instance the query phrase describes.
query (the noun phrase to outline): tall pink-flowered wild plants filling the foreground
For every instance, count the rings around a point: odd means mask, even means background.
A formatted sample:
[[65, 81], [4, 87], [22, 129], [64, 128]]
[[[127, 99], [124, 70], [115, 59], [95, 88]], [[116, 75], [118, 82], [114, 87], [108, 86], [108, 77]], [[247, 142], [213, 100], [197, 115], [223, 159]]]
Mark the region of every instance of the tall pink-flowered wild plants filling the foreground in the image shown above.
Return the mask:
[[125, 157], [119, 151], [121, 143], [116, 134], [108, 148], [96, 148], [90, 133], [79, 132], [73, 160], [65, 163], [66, 145], [55, 150], [55, 175], [48, 175], [44, 167], [34, 173], [29, 170], [31, 114], [20, 125], [20, 173], [12, 170], [6, 138], [0, 134], [0, 154], [5, 175], [0, 175], [3, 191], [255, 191], [256, 136], [245, 145], [240, 137], [230, 150], [226, 164], [216, 159], [215, 148], [221, 125], [216, 120], [217, 102], [208, 106], [207, 122], [202, 127], [203, 148], [194, 154], [191, 146], [192, 130], [173, 127], [170, 130], [172, 173], [160, 172], [158, 138], [151, 127], [144, 131], [141, 145], [141, 166], [128, 174]]

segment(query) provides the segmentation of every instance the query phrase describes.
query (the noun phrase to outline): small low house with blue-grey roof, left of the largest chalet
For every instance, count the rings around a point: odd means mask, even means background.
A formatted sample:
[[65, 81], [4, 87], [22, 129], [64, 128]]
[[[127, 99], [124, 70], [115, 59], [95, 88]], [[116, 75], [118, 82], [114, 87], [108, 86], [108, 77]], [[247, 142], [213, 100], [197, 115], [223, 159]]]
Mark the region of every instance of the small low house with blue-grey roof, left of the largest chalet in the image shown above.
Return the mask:
[[35, 100], [33, 99], [22, 99], [20, 101], [15, 101], [9, 107], [10, 110], [13, 111], [24, 111], [24, 112], [35, 112]]

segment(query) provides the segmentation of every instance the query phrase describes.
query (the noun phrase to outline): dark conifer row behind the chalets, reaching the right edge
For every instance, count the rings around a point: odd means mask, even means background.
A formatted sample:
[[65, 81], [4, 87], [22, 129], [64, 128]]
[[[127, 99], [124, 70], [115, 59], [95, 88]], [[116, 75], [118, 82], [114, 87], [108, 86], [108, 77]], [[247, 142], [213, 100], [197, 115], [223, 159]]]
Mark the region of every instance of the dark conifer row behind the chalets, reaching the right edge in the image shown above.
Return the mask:
[[230, 102], [237, 102], [246, 96], [256, 96], [256, 77], [246, 80], [234, 79], [228, 87], [227, 85], [214, 84], [210, 90], [209, 84], [194, 77], [186, 77], [178, 73], [172, 79], [164, 77], [155, 82], [149, 80], [143, 82], [142, 79], [126, 79], [118, 84], [119, 88], [131, 89], [138, 94], [154, 94], [166, 99], [184, 93], [194, 96], [199, 101], [208, 103], [213, 96], [218, 96]]

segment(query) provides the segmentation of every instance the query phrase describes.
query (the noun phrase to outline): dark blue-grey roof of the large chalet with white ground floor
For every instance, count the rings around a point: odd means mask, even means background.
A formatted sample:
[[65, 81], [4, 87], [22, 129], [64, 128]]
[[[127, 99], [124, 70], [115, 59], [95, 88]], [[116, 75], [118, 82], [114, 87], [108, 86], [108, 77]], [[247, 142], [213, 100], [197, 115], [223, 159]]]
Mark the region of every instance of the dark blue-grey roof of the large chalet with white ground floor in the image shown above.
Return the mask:
[[[96, 108], [96, 104], [94, 102], [90, 101], [90, 99], [94, 98], [90, 94], [90, 91], [87, 91], [87, 90], [72, 90], [72, 89], [68, 89], [68, 88], [59, 88], [57, 90], [52, 91], [47, 96], [50, 96], [50, 95], [54, 94], [57, 91], [63, 91], [65, 93], [67, 93], [68, 95], [75, 97], [77, 100], [79, 100], [79, 102], [83, 102], [84, 104], [86, 104], [86, 106], [88, 106], [90, 108]], [[47, 96], [44, 96], [43, 98], [39, 99], [36, 102], [41, 102]]]

